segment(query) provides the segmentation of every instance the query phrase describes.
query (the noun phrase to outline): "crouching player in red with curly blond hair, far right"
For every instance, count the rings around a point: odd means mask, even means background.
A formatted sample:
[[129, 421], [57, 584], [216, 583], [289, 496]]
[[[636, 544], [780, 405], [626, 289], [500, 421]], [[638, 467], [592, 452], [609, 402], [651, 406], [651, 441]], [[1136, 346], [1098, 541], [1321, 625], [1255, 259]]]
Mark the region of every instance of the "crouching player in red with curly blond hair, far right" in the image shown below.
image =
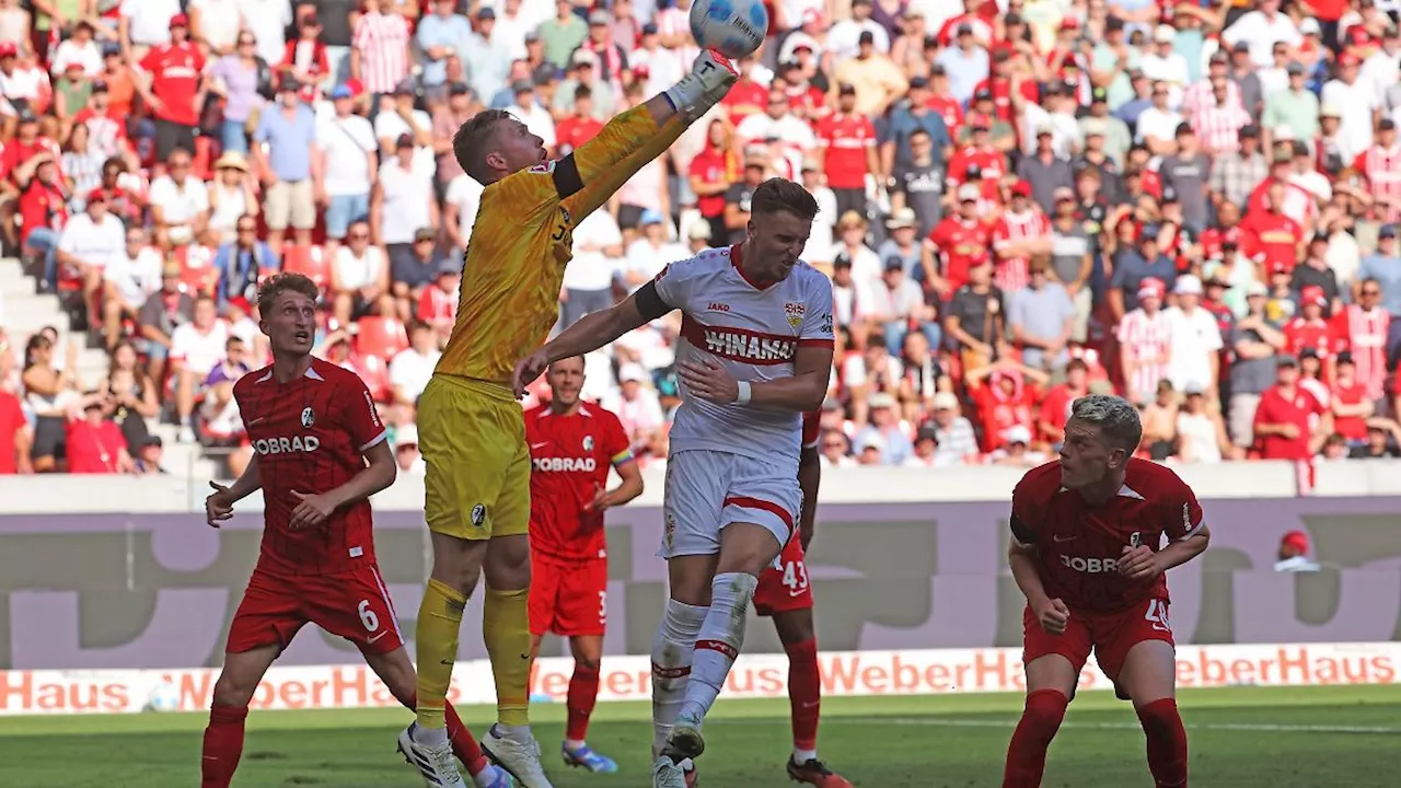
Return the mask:
[[1041, 785], [1047, 747], [1091, 651], [1118, 695], [1133, 701], [1154, 784], [1187, 785], [1164, 572], [1206, 550], [1210, 533], [1177, 474], [1132, 458], [1142, 436], [1126, 400], [1082, 397], [1061, 458], [1027, 473], [1012, 492], [1007, 564], [1027, 596], [1027, 705], [1007, 747], [1003, 788]]

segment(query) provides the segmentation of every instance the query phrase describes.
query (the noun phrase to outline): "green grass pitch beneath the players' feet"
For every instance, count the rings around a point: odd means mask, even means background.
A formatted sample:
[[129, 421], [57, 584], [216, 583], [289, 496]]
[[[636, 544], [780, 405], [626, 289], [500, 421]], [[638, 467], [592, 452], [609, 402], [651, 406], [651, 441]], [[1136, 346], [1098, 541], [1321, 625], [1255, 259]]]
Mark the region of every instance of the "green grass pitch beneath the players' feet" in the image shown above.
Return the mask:
[[[1178, 704], [1191, 740], [1194, 788], [1401, 785], [1401, 687], [1188, 690]], [[460, 709], [474, 731], [493, 712]], [[1017, 694], [828, 698], [820, 749], [857, 788], [996, 787]], [[600, 704], [590, 745], [619, 773], [566, 770], [558, 757], [562, 704], [532, 709], [556, 788], [650, 785], [647, 704]], [[192, 788], [202, 714], [0, 718], [4, 788]], [[394, 752], [409, 712], [252, 712], [235, 788], [416, 788]], [[786, 785], [786, 701], [722, 701], [706, 722], [705, 788]], [[1126, 702], [1082, 693], [1051, 746], [1056, 788], [1152, 785], [1143, 735]]]

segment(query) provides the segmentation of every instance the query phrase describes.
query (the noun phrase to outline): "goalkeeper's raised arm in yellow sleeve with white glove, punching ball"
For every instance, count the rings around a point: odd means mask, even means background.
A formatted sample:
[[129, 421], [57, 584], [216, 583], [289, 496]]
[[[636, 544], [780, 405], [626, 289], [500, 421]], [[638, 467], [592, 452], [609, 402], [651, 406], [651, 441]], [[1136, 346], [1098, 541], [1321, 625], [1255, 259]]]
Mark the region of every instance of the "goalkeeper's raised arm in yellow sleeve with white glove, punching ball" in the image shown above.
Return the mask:
[[723, 55], [702, 52], [681, 81], [615, 116], [594, 139], [556, 163], [555, 184], [574, 224], [671, 147], [696, 118], [724, 98], [737, 79]]

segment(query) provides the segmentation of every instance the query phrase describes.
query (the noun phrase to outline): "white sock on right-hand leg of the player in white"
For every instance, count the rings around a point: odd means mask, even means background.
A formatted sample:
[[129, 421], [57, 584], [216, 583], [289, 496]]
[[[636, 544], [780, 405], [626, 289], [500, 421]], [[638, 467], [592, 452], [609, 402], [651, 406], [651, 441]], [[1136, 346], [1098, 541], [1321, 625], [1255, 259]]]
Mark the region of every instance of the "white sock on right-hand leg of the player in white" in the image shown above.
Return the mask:
[[710, 611], [696, 635], [692, 681], [681, 702], [679, 719], [699, 725], [720, 695], [734, 658], [744, 645], [744, 617], [759, 579], [744, 572], [723, 572], [710, 580]]

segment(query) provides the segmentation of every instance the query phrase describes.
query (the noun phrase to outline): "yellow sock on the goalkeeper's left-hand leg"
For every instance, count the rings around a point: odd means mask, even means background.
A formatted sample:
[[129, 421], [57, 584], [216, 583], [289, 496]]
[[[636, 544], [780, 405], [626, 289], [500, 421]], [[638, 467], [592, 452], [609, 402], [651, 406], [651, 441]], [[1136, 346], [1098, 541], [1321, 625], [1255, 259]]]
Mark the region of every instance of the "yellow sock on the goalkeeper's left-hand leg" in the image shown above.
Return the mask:
[[415, 625], [417, 641], [417, 721], [423, 743], [447, 740], [447, 688], [457, 663], [457, 637], [462, 627], [467, 595], [439, 579], [429, 579]]

